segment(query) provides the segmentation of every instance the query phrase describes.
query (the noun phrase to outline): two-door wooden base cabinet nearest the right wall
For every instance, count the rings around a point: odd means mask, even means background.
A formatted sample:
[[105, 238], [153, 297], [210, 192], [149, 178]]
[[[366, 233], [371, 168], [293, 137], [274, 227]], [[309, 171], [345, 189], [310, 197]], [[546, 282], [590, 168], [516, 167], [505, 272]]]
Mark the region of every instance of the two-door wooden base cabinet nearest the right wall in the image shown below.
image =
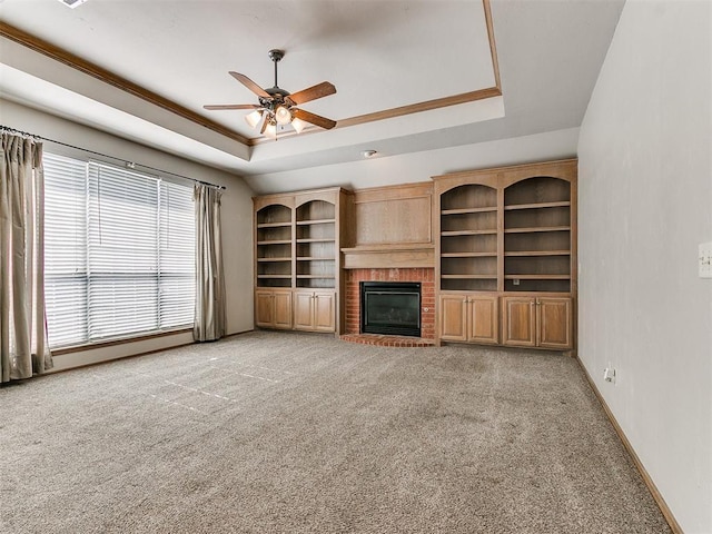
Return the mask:
[[504, 345], [572, 348], [572, 299], [568, 297], [502, 297]]

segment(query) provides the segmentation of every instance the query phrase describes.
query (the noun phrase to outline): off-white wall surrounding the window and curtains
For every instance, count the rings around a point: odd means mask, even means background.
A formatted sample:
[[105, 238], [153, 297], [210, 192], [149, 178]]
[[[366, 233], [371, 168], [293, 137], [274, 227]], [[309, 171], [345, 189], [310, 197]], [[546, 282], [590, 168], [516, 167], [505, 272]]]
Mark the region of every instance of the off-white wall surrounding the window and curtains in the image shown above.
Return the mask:
[[[221, 199], [221, 220], [227, 290], [227, 333], [236, 334], [253, 329], [253, 190], [241, 178], [7, 100], [0, 100], [0, 123], [127, 161], [226, 186], [227, 190], [222, 191]], [[44, 150], [67, 156], [87, 157], [86, 152], [51, 142], [44, 144]], [[140, 170], [140, 166], [137, 169]], [[55, 367], [63, 369], [190, 342], [191, 335], [179, 334], [95, 348], [57, 356]]]

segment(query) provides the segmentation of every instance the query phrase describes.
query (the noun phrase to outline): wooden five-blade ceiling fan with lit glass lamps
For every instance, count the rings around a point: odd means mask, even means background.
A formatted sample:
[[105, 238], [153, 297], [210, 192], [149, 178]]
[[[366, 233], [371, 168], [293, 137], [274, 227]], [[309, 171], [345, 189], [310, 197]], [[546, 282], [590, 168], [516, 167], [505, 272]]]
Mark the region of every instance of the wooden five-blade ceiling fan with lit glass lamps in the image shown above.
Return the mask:
[[[277, 85], [277, 63], [284, 58], [284, 50], [270, 50], [269, 59], [275, 63], [275, 87], [263, 89], [247, 76], [239, 72], [230, 71], [230, 76], [257, 95], [259, 105], [257, 103], [224, 103], [204, 106], [208, 110], [224, 109], [251, 109], [253, 112], [245, 117], [247, 123], [257, 129], [265, 136], [276, 139], [277, 128], [291, 125], [297, 134], [300, 134], [306, 123], [316, 125], [318, 127], [330, 130], [336, 126], [336, 121], [327, 119], [304, 109], [297, 108], [305, 102], [316, 100], [317, 98], [328, 97], [336, 92], [336, 87], [328, 81], [323, 81], [316, 86], [290, 93], [279, 88]], [[261, 125], [261, 126], [260, 126]]]

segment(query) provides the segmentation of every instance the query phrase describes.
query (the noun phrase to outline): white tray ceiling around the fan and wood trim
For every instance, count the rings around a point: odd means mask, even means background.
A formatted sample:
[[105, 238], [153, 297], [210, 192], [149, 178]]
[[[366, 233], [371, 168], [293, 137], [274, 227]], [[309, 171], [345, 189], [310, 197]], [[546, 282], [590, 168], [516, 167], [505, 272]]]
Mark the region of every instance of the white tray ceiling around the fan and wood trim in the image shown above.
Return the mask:
[[[491, 4], [502, 97], [276, 142], [238, 142], [6, 38], [0, 90], [240, 176], [577, 127], [623, 0]], [[482, 0], [0, 0], [0, 19], [247, 138], [245, 111], [202, 106], [257, 103], [228, 71], [271, 87], [273, 48], [281, 88], [336, 86], [300, 107], [339, 121], [496, 85]]]

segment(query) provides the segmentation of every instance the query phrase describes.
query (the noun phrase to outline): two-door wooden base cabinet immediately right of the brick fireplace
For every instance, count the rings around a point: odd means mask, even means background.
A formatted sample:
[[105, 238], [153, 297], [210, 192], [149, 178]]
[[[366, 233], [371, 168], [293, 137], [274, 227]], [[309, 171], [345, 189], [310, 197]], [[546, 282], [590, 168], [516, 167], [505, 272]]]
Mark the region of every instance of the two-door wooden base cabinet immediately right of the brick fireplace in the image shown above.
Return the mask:
[[441, 294], [441, 339], [496, 344], [498, 315], [496, 295]]

